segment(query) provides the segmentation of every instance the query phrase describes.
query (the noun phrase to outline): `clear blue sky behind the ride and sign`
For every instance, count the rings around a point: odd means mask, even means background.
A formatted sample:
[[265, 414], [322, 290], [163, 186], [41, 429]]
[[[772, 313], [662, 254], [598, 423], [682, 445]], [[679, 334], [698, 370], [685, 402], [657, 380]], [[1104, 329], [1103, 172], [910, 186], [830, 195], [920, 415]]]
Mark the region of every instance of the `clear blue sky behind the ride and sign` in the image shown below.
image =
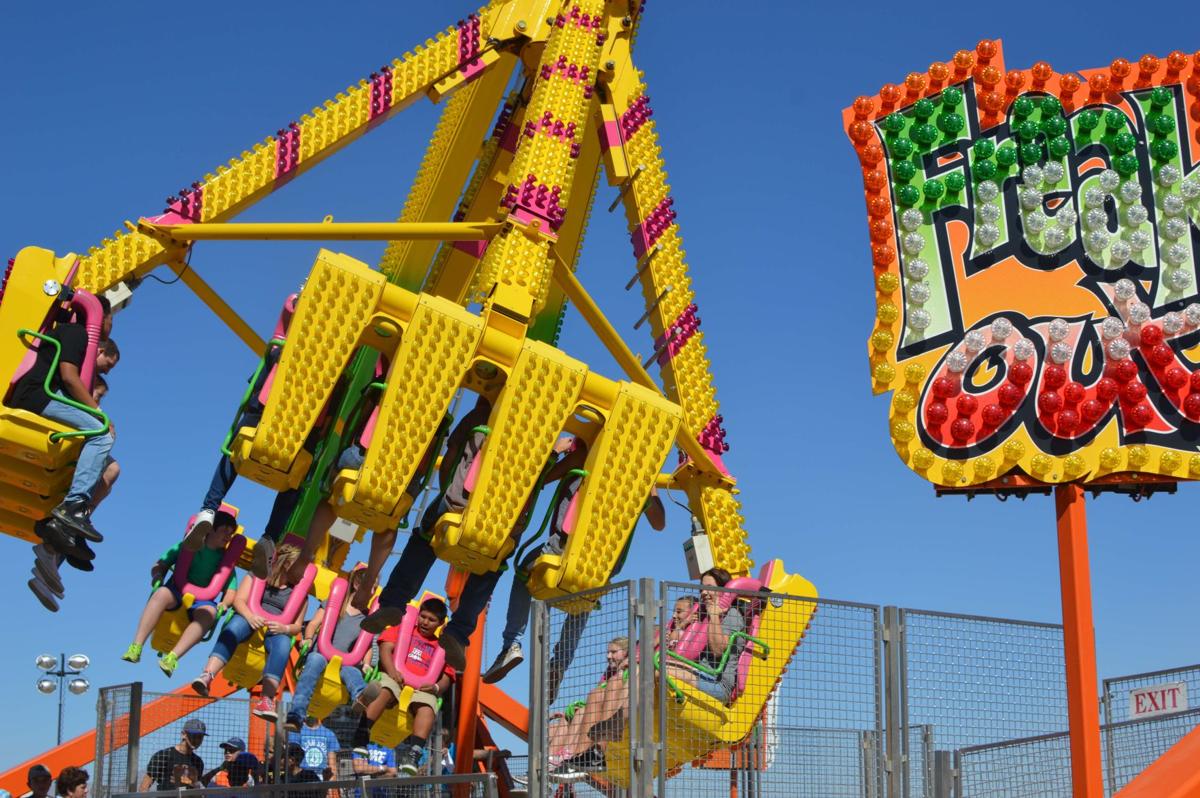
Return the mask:
[[[306, 109], [467, 13], [467, 4], [298, 0], [193, 6], [11, 4], [0, 71], [0, 252], [85, 251], [124, 220], [215, 170]], [[893, 455], [887, 400], [870, 394], [874, 296], [857, 160], [841, 109], [984, 36], [1006, 60], [1056, 68], [1192, 52], [1174, 25], [1133, 22], [1127, 4], [1045, 4], [1033, 17], [979, 4], [649, 4], [638, 38], [683, 226], [706, 346], [743, 487], [755, 556], [781, 557], [823, 595], [1038, 620], [1058, 618], [1049, 498], [936, 499]], [[1116, 12], [1116, 13], [1111, 13]], [[929, 16], [926, 16], [926, 13]], [[936, 16], [935, 16], [936, 14]], [[1120, 35], [1117, 31], [1120, 30]], [[391, 220], [436, 119], [419, 104], [259, 203], [242, 220]], [[601, 190], [580, 275], [629, 334], [640, 316], [614, 196]], [[193, 266], [260, 331], [312, 265], [313, 244], [209, 244]], [[382, 245], [331, 245], [374, 263]], [[169, 276], [169, 275], [168, 275]], [[643, 331], [644, 332], [644, 331]], [[92, 683], [174, 682], [121, 662], [157, 554], [194, 511], [253, 358], [181, 284], [148, 281], [114, 328], [122, 360], [106, 407], [125, 473], [97, 514], [97, 571], [66, 575], [48, 616], [25, 589], [29, 547], [4, 548], [11, 619], [0, 659], [0, 767], [53, 743], [54, 700], [34, 690], [41, 652], [85, 652]], [[575, 314], [562, 346], [618, 370]], [[270, 494], [230, 499], [257, 534]], [[1200, 493], [1090, 504], [1102, 676], [1200, 660], [1194, 589]], [[625, 574], [684, 578], [682, 512], [640, 532]], [[440, 584], [440, 578], [436, 582]], [[500, 583], [506, 590], [508, 581]], [[490, 635], [494, 655], [498, 630]], [[520, 685], [523, 672], [510, 677]], [[523, 692], [518, 688], [520, 692]], [[68, 697], [67, 732], [94, 722], [95, 694]], [[18, 720], [19, 719], [19, 720]]]

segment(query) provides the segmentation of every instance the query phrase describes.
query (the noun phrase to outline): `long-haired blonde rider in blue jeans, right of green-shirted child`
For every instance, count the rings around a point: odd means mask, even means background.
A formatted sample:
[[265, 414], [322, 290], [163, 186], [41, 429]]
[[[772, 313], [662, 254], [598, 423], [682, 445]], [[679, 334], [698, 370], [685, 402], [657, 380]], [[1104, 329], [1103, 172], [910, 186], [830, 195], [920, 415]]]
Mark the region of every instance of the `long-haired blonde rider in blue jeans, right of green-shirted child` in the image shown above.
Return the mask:
[[[299, 581], [292, 576], [292, 565], [299, 557], [300, 548], [292, 545], [280, 546], [275, 552], [275, 559], [265, 580], [266, 584], [260, 601], [260, 606], [264, 610], [274, 614], [280, 614], [287, 607], [288, 599], [292, 598], [292, 592]], [[209, 686], [212, 684], [212, 679], [221, 673], [226, 662], [233, 656], [234, 650], [250, 640], [251, 635], [262, 629], [265, 632], [263, 647], [266, 649], [266, 664], [263, 667], [260, 680], [263, 696], [254, 704], [252, 712], [263, 720], [275, 722], [277, 719], [275, 714], [275, 696], [280, 689], [280, 679], [283, 678], [283, 671], [288, 665], [288, 654], [292, 652], [292, 637], [299, 635], [302, 629], [301, 622], [304, 620], [308, 600], [306, 598], [300, 604], [299, 612], [290, 622], [268, 620], [257, 614], [250, 606], [251, 590], [257, 581], [257, 577], [251, 577], [242, 580], [241, 584], [238, 586], [238, 593], [233, 600], [233, 608], [236, 614], [229, 619], [224, 629], [221, 630], [221, 634], [217, 635], [212, 654], [209, 656], [204, 671], [192, 680], [192, 689], [202, 696], [209, 695]]]

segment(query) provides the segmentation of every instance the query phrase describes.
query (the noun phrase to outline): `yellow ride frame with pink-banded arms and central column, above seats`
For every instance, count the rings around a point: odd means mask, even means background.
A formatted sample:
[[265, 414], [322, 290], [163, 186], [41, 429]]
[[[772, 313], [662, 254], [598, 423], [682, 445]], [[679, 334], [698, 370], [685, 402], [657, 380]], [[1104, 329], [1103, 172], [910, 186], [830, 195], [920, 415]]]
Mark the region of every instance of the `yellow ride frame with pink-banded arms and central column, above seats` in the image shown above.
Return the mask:
[[[713, 539], [716, 562], [745, 572], [750, 558], [736, 479], [720, 462], [724, 431], [710, 366], [696, 331], [661, 148], [632, 59], [640, 6], [634, 0], [491, 0], [457, 28], [205, 175], [164, 216], [127, 224], [106, 239], [82, 258], [76, 286], [103, 290], [169, 264], [242, 342], [260, 352], [262, 338], [193, 269], [180, 265], [191, 242], [388, 240], [376, 293], [390, 295], [402, 287], [457, 305], [481, 302], [493, 332], [484, 335], [480, 350], [497, 340], [496, 330], [505, 330], [508, 353], [498, 359], [514, 364], [530, 329], [554, 342], [570, 301], [635, 383], [680, 408], [676, 443], [686, 461], [671, 484], [688, 493]], [[420, 97], [444, 100], [445, 108], [398, 222], [229, 223]], [[619, 187], [635, 239], [648, 241], [646, 230], [653, 228], [655, 241], [640, 253], [636, 270], [655, 355], [661, 355], [661, 388], [572, 274], [601, 164], [608, 182]], [[386, 288], [384, 276], [391, 282]], [[683, 328], [686, 338], [676, 341]], [[382, 342], [370, 332], [355, 342], [370, 344], [372, 338]], [[342, 354], [331, 362], [341, 362]], [[293, 400], [277, 412], [304, 404], [301, 415], [308, 418], [320, 407]], [[272, 427], [271, 414], [269, 407], [266, 427]], [[276, 454], [287, 452], [283, 460], [266, 457], [264, 440], [242, 439], [240, 445], [248, 475], [276, 488], [298, 484], [306, 467], [294, 440], [270, 444]], [[384, 515], [390, 521], [397, 512], [394, 506]]]

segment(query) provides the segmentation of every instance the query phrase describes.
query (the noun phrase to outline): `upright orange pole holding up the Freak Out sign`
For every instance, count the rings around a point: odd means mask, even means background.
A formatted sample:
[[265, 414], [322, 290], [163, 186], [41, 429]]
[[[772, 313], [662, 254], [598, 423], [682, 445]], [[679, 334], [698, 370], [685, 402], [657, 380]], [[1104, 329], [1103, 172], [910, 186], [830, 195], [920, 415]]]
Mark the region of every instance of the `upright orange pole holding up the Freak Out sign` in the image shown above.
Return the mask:
[[1055, 487], [1058, 514], [1058, 575], [1062, 587], [1067, 718], [1074, 798], [1103, 798], [1100, 707], [1096, 677], [1092, 578], [1087, 564], [1087, 509], [1079, 485]]

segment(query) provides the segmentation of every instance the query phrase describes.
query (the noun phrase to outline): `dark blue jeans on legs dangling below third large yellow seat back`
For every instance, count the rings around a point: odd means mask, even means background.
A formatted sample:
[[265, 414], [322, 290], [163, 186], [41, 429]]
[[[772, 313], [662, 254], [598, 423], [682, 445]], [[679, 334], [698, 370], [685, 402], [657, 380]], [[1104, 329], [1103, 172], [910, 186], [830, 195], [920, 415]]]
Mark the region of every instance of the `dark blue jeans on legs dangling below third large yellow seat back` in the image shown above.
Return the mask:
[[[425, 584], [425, 577], [430, 575], [430, 569], [438, 559], [438, 556], [433, 553], [433, 546], [420, 533], [431, 529], [432, 522], [444, 510], [445, 504], [440, 499], [431, 504], [421, 521], [421, 529], [414, 530], [408, 536], [404, 551], [401, 552], [400, 560], [396, 562], [396, 566], [388, 576], [388, 584], [379, 594], [380, 607], [403, 607], [416, 598], [421, 586]], [[458, 596], [458, 608], [455, 610], [450, 623], [446, 624], [442, 634], [451, 635], [466, 646], [472, 632], [475, 631], [480, 613], [484, 612], [492, 593], [496, 592], [496, 583], [499, 580], [499, 571], [488, 571], [482, 575], [472, 574], [462, 588], [462, 595]]]

